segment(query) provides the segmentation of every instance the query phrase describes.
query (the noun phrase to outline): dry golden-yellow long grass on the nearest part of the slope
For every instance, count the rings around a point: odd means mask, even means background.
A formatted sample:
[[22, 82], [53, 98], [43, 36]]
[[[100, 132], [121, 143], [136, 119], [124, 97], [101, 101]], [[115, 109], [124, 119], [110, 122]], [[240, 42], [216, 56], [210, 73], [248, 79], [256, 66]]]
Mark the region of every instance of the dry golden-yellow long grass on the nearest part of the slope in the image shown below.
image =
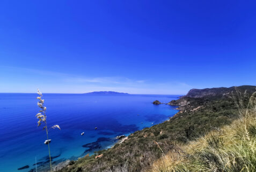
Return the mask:
[[234, 100], [240, 119], [176, 146], [153, 163], [152, 171], [256, 171], [256, 92], [246, 104]]

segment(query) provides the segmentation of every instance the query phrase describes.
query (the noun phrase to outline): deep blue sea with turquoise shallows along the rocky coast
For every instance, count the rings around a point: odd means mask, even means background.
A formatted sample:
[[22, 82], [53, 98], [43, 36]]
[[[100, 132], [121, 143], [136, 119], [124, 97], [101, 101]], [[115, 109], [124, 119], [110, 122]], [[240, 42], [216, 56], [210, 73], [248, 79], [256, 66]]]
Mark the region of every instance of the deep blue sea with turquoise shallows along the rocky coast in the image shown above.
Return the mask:
[[[43, 144], [46, 132], [36, 127], [35, 115], [39, 111], [36, 97], [32, 93], [0, 93], [1, 171], [28, 171], [35, 168], [35, 158], [38, 167], [48, 165], [48, 146]], [[129, 135], [167, 120], [178, 111], [165, 104], [153, 105], [152, 101], [168, 103], [177, 98], [177, 95], [43, 94], [48, 127], [54, 124], [61, 127], [49, 131], [53, 161], [93, 154], [113, 146], [118, 135]], [[30, 168], [17, 170], [26, 165]]]

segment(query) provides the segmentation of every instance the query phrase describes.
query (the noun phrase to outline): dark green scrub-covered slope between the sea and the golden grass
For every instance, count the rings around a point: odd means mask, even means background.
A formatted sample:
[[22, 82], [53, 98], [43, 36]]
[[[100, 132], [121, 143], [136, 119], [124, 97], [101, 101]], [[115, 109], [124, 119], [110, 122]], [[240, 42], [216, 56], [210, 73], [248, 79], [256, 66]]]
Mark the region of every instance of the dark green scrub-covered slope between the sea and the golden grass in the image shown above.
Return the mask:
[[[238, 89], [244, 92], [248, 88]], [[208, 131], [230, 124], [239, 117], [236, 105], [229, 96], [182, 97], [171, 101], [171, 104], [179, 105], [181, 111], [169, 121], [136, 131], [122, 144], [96, 153], [103, 153], [103, 157], [95, 159], [92, 155], [81, 158], [62, 171], [148, 171], [163, 152], [167, 153], [177, 144], [184, 145]]]

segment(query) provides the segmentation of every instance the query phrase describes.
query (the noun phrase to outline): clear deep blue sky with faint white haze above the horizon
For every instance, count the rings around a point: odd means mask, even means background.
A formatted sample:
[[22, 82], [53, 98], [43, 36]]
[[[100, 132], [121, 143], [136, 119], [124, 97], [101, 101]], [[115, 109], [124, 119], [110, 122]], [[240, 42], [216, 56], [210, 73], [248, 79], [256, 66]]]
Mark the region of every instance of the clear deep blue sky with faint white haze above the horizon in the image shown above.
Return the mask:
[[0, 92], [256, 83], [255, 1], [1, 1]]

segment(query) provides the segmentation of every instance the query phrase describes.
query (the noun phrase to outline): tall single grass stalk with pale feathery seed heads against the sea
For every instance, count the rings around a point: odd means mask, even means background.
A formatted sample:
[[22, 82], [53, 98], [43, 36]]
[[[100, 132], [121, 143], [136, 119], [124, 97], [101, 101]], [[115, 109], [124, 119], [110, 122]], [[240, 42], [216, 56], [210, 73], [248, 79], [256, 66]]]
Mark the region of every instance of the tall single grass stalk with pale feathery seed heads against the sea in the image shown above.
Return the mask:
[[[41, 126], [42, 123], [45, 124], [45, 127], [43, 127], [43, 130], [46, 130], [46, 136], [47, 136], [47, 140], [46, 140], [46, 144], [48, 145], [48, 152], [49, 152], [49, 160], [50, 160], [50, 171], [52, 171], [52, 160], [51, 160], [51, 157], [50, 157], [50, 140], [49, 140], [49, 136], [48, 136], [48, 128], [47, 128], [47, 121], [46, 121], [46, 107], [43, 106], [43, 103], [45, 103], [45, 100], [42, 99], [42, 93], [40, 92], [40, 90], [38, 89], [38, 97], [36, 99], [38, 99], [38, 107], [40, 108], [39, 110], [39, 113], [36, 114], [36, 118], [38, 119], [38, 127]], [[53, 128], [58, 128], [58, 129], [61, 129], [60, 126], [58, 125], [54, 125], [52, 127], [50, 127], [50, 129]]]

